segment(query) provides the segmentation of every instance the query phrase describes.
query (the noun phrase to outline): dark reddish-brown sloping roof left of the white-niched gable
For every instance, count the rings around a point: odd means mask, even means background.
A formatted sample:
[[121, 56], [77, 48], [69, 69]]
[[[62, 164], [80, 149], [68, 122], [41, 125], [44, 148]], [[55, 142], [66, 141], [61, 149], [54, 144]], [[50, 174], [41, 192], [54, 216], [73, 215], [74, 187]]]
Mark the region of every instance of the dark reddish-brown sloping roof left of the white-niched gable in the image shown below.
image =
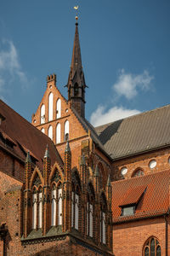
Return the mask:
[[[63, 161], [59, 156], [59, 152], [54, 146], [54, 143], [49, 137], [44, 135], [42, 131], [37, 130], [26, 119], [22, 118], [19, 113], [16, 113], [12, 108], [8, 107], [0, 100], [0, 113], [4, 116], [2, 125], [0, 125], [0, 133], [9, 141], [13, 142], [13, 148], [8, 147], [8, 150], [18, 156], [21, 160], [26, 160], [27, 151], [30, 151], [32, 160], [42, 170], [42, 161], [46, 146], [48, 145], [51, 164], [57, 161], [60, 166], [63, 166]], [[0, 139], [0, 145], [4, 148], [5, 143]]]

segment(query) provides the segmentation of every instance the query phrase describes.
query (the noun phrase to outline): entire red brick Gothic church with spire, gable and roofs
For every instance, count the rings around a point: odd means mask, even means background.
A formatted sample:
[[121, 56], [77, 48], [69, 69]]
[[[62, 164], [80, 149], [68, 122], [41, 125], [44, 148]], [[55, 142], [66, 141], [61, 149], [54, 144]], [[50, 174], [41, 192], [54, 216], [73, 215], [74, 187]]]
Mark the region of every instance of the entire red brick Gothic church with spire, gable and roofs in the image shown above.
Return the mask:
[[170, 255], [170, 105], [91, 125], [78, 23], [65, 87], [0, 101], [0, 255]]

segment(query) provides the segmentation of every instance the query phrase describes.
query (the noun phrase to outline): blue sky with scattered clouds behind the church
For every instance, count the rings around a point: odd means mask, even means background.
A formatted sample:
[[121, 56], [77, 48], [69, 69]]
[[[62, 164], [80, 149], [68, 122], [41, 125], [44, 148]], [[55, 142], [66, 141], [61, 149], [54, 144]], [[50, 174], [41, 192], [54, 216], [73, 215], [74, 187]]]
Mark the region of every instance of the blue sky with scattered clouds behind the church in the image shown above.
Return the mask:
[[50, 73], [67, 97], [74, 5], [87, 119], [101, 125], [170, 103], [169, 0], [2, 0], [1, 99], [31, 121]]

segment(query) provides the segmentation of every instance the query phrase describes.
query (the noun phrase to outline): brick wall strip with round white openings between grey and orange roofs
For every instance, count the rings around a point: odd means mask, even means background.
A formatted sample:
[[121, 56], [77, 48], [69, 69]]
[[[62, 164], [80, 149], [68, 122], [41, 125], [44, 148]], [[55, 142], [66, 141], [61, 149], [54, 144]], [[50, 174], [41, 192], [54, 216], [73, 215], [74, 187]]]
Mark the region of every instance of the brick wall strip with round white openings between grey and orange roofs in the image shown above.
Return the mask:
[[[141, 154], [138, 156], [129, 157], [124, 160], [117, 160], [112, 164], [112, 178], [114, 180], [122, 178], [130, 178], [133, 172], [138, 168], [143, 169], [144, 174], [160, 172], [168, 169], [170, 164], [168, 158], [170, 157], [170, 148], [158, 149], [152, 153]], [[150, 169], [150, 160], [156, 160], [156, 167]], [[122, 177], [121, 169], [123, 166], [127, 167], [127, 174]]]

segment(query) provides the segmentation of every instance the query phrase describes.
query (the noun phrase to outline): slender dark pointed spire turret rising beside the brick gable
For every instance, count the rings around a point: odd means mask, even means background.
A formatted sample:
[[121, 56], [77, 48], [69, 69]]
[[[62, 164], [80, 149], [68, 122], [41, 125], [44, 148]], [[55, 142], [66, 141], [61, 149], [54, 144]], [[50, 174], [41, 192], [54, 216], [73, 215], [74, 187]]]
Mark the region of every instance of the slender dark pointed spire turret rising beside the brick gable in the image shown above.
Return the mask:
[[68, 83], [68, 101], [79, 115], [85, 117], [85, 88], [87, 87], [82, 71], [82, 57], [78, 34], [78, 22], [76, 22], [76, 32], [71, 60], [71, 71], [69, 73]]

